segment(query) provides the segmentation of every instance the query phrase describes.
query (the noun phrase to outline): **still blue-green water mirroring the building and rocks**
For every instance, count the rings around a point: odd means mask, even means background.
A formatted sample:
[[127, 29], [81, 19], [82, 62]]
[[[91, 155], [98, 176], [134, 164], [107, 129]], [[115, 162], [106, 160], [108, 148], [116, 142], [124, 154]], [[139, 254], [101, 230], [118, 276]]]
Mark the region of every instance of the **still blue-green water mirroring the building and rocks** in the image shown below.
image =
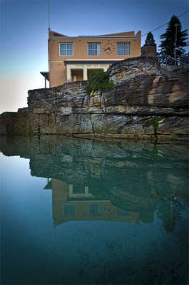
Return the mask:
[[188, 284], [188, 145], [4, 137], [1, 284]]

